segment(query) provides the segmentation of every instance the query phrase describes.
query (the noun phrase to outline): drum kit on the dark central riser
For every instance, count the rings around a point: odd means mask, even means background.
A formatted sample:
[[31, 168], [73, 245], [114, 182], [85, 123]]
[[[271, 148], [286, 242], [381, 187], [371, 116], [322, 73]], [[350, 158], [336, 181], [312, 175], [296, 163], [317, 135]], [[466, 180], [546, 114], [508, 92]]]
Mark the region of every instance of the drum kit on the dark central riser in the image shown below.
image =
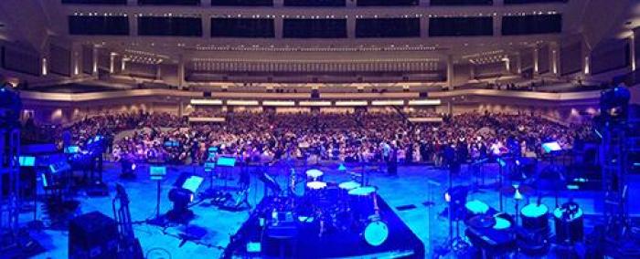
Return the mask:
[[[389, 237], [389, 226], [378, 206], [378, 188], [363, 185], [357, 179], [344, 182], [324, 181], [325, 172], [310, 169], [289, 177], [288, 201], [294, 218], [302, 224], [319, 226], [318, 236], [327, 233], [357, 233], [365, 243], [379, 246]], [[304, 182], [303, 182], [304, 181]], [[304, 192], [300, 187], [304, 186]]]

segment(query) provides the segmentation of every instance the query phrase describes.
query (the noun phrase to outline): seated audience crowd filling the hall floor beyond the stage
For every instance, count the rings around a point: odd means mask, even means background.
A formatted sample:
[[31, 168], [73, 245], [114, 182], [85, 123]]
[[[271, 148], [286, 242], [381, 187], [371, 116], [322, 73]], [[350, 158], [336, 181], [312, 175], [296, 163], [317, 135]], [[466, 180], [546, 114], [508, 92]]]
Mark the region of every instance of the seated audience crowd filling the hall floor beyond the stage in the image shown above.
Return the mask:
[[592, 138], [590, 125], [566, 127], [532, 114], [472, 112], [444, 117], [442, 124], [411, 124], [398, 113], [220, 115], [227, 121], [189, 124], [165, 113], [103, 115], [58, 129], [55, 135], [61, 145], [80, 147], [91, 136], [103, 135], [113, 161], [176, 164], [207, 161], [211, 147], [247, 162], [464, 163], [504, 154], [538, 157], [544, 142], [558, 141], [571, 149], [575, 141]]

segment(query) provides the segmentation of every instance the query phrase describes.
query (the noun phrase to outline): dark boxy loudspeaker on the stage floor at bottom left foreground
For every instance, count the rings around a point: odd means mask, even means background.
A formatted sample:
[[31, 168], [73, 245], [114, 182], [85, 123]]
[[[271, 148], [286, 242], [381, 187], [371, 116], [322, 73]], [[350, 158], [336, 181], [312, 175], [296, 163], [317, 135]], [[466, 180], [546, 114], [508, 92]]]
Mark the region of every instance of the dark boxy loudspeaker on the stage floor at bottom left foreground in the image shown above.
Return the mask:
[[69, 258], [111, 259], [118, 256], [118, 225], [101, 212], [89, 212], [69, 223]]

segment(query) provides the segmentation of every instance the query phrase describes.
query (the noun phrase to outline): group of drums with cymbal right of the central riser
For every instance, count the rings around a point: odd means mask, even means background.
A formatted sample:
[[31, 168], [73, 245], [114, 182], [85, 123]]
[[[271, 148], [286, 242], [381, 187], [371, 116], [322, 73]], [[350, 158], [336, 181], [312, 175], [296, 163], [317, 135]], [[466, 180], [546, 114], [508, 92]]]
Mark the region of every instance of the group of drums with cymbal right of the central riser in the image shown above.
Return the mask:
[[[519, 208], [523, 198], [534, 195], [533, 188], [516, 184], [500, 189], [500, 193], [515, 200], [515, 217], [498, 212], [479, 200], [464, 204], [465, 234], [481, 258], [514, 252], [539, 256], [548, 253], [554, 240], [556, 244], [570, 246], [583, 240], [583, 214], [577, 203], [566, 202], [551, 212], [539, 196], [537, 202]], [[555, 223], [555, 239], [549, 225], [551, 217]]]

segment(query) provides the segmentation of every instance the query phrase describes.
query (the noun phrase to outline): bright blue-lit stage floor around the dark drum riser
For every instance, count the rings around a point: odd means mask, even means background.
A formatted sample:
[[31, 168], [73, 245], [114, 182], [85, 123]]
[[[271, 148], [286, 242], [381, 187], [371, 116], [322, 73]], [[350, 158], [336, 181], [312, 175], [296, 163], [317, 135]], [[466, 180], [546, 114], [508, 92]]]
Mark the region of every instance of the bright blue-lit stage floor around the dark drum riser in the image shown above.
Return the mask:
[[[337, 164], [320, 166], [320, 170], [325, 171], [325, 181], [348, 181], [349, 176], [345, 171], [338, 171]], [[271, 168], [272, 171], [282, 171], [278, 181], [284, 184], [286, 181], [286, 168]], [[297, 168], [297, 171], [304, 171], [304, 168]], [[352, 171], [353, 169], [347, 169]], [[104, 179], [109, 183], [111, 193], [109, 197], [89, 197], [80, 195], [80, 208], [76, 214], [98, 211], [106, 215], [113, 216], [112, 197], [114, 195], [114, 184], [120, 182], [128, 192], [131, 200], [131, 213], [133, 221], [144, 221], [155, 215], [155, 181], [148, 177], [148, 168], [139, 166], [136, 170], [138, 177], [135, 180], [120, 179], [120, 165], [107, 163], [105, 165]], [[167, 198], [171, 185], [176, 181], [181, 171], [204, 173], [202, 168], [192, 166], [169, 166], [167, 179], [163, 181], [161, 195], [161, 212], [170, 210], [172, 204]], [[496, 180], [496, 165], [485, 166], [485, 179], [487, 182]], [[371, 185], [378, 186], [379, 195], [384, 199], [393, 212], [395, 212], [402, 222], [409, 226], [424, 244], [424, 251], [431, 255], [434, 249], [442, 245], [447, 240], [449, 224], [447, 218], [442, 214], [446, 208], [443, 199], [443, 192], [448, 187], [448, 171], [435, 169], [431, 166], [402, 166], [399, 168], [398, 176], [389, 176], [384, 172], [371, 172], [369, 174]], [[630, 185], [637, 188], [639, 185], [636, 176], [631, 177]], [[463, 167], [462, 172], [453, 178], [453, 185], [470, 184], [475, 181], [472, 174]], [[283, 185], [284, 186], [284, 185]], [[205, 181], [201, 187], [204, 190], [208, 187]], [[634, 190], [634, 189], [632, 189]], [[636, 189], [637, 190], [637, 189]], [[249, 202], [255, 205], [261, 201], [263, 184], [257, 178], [251, 177], [251, 191]], [[550, 192], [542, 202], [549, 208], [554, 208], [554, 199]], [[600, 192], [571, 192], [572, 199], [581, 205], [586, 215], [601, 214], [602, 193]], [[631, 192], [630, 201], [640, 199], [638, 192]], [[568, 200], [569, 193], [560, 193], [560, 203]], [[488, 205], [498, 208], [499, 200], [497, 192], [493, 190], [481, 190], [469, 194], [469, 200], [477, 199]], [[538, 197], [531, 197], [531, 201], [536, 201]], [[525, 200], [526, 201], [526, 200]], [[430, 203], [432, 205], [430, 205]], [[513, 213], [516, 203], [512, 199], [505, 199], [504, 211]], [[640, 206], [631, 206], [631, 213], [640, 214]], [[222, 211], [211, 205], [201, 203], [192, 208], [196, 218], [188, 226], [175, 225], [166, 229], [147, 224], [136, 224], [134, 230], [139, 238], [144, 253], [152, 251], [162, 251], [171, 254], [171, 258], [219, 258], [224, 248], [229, 244], [229, 236], [236, 233], [242, 223], [249, 218], [248, 211], [228, 212]], [[47, 215], [38, 212], [39, 217], [47, 223]], [[27, 222], [33, 219], [32, 213], [21, 215], [21, 221]], [[594, 222], [590, 217], [585, 217], [585, 233], [590, 232]], [[461, 233], [464, 226], [461, 224]], [[183, 233], [191, 241], [184, 242]], [[38, 254], [35, 258], [67, 258], [68, 232], [59, 230], [44, 230], [32, 232], [35, 237], [47, 250], [43, 254]], [[429, 256], [428, 255], [428, 256]], [[168, 256], [165, 256], [168, 258]], [[452, 255], [452, 258], [455, 258]]]

